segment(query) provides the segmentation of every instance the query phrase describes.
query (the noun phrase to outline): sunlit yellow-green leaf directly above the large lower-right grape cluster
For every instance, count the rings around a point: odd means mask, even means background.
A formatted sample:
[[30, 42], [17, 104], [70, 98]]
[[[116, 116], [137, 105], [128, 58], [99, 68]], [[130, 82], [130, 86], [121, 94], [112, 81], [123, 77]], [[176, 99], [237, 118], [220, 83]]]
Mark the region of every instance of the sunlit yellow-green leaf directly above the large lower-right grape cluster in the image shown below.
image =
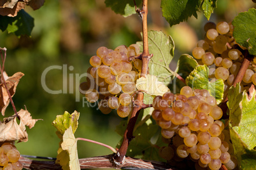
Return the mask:
[[209, 82], [208, 76], [208, 67], [206, 65], [199, 65], [188, 75], [186, 84], [192, 89], [207, 89], [219, 104], [224, 96], [224, 82], [222, 79]]

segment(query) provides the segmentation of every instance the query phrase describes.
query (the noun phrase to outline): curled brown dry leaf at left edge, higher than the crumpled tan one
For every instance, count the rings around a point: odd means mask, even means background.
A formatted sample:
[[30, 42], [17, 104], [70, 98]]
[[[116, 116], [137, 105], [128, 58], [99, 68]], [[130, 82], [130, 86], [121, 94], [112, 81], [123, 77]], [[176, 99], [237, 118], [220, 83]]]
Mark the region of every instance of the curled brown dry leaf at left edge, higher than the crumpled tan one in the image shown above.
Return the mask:
[[[6, 86], [9, 89], [11, 96], [13, 96], [15, 94], [18, 82], [20, 81], [20, 78], [23, 75], [24, 74], [22, 72], [17, 72], [6, 80]], [[10, 98], [9, 98], [6, 88], [2, 82], [0, 84], [0, 110], [1, 110], [2, 115], [4, 115], [6, 107], [9, 105], [9, 103], [10, 103]]]

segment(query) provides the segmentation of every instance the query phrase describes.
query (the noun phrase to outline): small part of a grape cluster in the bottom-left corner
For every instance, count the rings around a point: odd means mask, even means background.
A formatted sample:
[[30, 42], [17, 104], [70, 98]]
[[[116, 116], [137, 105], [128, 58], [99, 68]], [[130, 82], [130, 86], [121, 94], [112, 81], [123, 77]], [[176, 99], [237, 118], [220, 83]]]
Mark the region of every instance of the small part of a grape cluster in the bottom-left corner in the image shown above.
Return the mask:
[[20, 152], [11, 143], [3, 143], [0, 147], [0, 169], [21, 170], [22, 163], [20, 159]]

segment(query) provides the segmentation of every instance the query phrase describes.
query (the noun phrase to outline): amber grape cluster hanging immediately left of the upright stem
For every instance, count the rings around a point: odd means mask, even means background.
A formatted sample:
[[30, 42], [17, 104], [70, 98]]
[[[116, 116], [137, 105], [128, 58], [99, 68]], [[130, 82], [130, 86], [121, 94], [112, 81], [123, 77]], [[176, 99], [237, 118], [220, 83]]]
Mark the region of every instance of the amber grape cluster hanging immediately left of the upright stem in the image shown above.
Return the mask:
[[90, 58], [87, 70], [87, 88], [85, 98], [90, 103], [100, 99], [98, 108], [103, 114], [117, 109], [120, 117], [127, 117], [131, 112], [131, 95], [136, 91], [135, 81], [140, 74], [142, 62], [135, 59], [129, 62], [130, 56], [139, 55], [136, 44], [118, 46], [113, 49], [100, 47], [97, 55]]

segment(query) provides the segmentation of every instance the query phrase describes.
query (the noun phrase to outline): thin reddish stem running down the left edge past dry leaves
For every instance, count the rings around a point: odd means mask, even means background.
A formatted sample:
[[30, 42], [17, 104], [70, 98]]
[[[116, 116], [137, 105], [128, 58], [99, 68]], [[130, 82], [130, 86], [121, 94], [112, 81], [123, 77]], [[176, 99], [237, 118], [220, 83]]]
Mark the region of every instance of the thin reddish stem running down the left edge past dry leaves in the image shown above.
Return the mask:
[[[7, 85], [6, 85], [6, 82], [4, 80], [4, 75], [3, 75], [3, 72], [4, 72], [4, 62], [5, 62], [5, 59], [6, 59], [6, 51], [7, 51], [7, 49], [6, 48], [0, 48], [0, 51], [1, 51], [1, 57], [2, 57], [2, 60], [3, 60], [3, 67], [1, 67], [1, 65], [0, 65], [1, 79], [2, 79], [2, 82], [3, 82], [4, 87], [6, 89], [6, 92], [8, 94], [8, 97], [10, 99], [11, 106], [13, 107], [13, 111], [14, 111], [15, 115], [18, 117], [18, 112], [17, 112], [16, 107], [15, 107], [15, 105], [13, 103], [13, 99], [11, 98], [11, 93], [10, 93], [10, 91], [9, 91]], [[2, 51], [4, 51], [4, 57], [3, 57]]]

